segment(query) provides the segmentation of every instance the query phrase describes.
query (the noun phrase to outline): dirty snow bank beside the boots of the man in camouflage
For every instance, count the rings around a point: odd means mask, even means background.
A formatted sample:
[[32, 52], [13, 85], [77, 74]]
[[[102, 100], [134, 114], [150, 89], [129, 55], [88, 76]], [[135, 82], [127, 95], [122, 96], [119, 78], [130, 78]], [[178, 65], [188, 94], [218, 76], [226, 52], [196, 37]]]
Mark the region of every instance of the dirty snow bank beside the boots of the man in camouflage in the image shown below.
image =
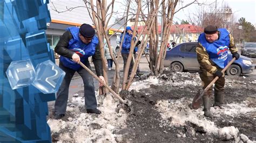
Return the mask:
[[184, 126], [186, 123], [192, 123], [207, 133], [217, 134], [218, 127], [214, 125], [214, 122], [207, 120], [202, 110], [191, 110], [188, 107], [190, 103], [192, 103], [191, 99], [186, 98], [176, 101], [158, 101], [156, 106], [163, 118], [163, 125]]

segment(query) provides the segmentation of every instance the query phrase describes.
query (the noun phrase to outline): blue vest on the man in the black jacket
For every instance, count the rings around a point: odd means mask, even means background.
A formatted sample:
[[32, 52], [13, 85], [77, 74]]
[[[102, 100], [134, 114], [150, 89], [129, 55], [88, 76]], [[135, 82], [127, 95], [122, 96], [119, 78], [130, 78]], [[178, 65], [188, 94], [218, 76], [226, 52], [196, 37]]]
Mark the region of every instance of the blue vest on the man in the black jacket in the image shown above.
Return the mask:
[[[72, 34], [72, 39], [69, 41], [68, 49], [75, 51], [80, 56], [80, 61], [84, 62], [89, 56], [95, 54], [95, 48], [98, 45], [98, 38], [94, 36], [89, 44], [84, 44], [79, 38], [79, 28], [78, 27], [68, 27], [66, 31], [70, 31]], [[73, 70], [78, 70], [81, 66], [73, 62], [71, 59], [65, 56], [60, 56], [60, 61], [65, 67], [71, 68]]]

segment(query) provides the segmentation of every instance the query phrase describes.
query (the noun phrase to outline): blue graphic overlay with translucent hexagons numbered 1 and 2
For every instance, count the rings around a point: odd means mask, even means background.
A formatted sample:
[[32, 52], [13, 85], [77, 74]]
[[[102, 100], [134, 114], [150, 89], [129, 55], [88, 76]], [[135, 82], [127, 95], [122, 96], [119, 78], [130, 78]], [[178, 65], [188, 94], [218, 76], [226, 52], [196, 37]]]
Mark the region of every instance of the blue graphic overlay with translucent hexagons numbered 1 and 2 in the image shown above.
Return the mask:
[[[0, 0], [0, 142], [51, 142], [47, 102], [55, 100], [63, 72], [46, 41], [48, 3]], [[34, 87], [41, 77], [55, 87]]]

